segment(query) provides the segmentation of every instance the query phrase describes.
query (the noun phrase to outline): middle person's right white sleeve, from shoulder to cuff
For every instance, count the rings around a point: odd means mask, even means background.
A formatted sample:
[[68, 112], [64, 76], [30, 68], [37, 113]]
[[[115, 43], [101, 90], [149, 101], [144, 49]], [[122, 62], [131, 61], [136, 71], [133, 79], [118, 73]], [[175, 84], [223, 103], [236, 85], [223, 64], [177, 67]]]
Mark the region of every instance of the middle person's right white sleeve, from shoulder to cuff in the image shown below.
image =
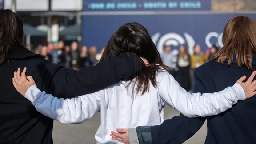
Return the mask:
[[160, 82], [159, 95], [164, 104], [191, 118], [217, 115], [246, 98], [244, 89], [237, 83], [220, 92], [191, 94], [169, 74]]

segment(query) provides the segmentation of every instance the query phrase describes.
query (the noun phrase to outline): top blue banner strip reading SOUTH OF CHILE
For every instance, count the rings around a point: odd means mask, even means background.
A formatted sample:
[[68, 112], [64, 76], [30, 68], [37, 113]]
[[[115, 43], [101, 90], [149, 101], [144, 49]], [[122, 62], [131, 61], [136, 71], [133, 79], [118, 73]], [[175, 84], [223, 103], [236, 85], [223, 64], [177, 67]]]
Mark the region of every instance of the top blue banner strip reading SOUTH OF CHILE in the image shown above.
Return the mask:
[[84, 0], [83, 11], [211, 10], [211, 0]]

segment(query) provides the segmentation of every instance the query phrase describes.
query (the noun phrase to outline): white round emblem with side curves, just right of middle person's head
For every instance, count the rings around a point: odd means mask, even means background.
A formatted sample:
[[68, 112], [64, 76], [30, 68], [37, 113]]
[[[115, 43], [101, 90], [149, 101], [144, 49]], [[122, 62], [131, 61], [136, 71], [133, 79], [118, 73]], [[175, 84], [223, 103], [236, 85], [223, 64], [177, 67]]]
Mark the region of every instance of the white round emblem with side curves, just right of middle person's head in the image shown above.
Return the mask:
[[[172, 46], [177, 47], [179, 45], [185, 44], [186, 42], [188, 44], [188, 52], [190, 54], [193, 53], [193, 47], [195, 45], [195, 40], [193, 39], [193, 37], [190, 34], [188, 34], [186, 32], [184, 33], [184, 38], [177, 33], [167, 33], [160, 37], [160, 32], [154, 34], [151, 38], [152, 38], [154, 44], [156, 44], [156, 47], [160, 54], [164, 52], [163, 48], [165, 45], [172, 45]], [[175, 53], [177, 53], [177, 52], [175, 52]]]

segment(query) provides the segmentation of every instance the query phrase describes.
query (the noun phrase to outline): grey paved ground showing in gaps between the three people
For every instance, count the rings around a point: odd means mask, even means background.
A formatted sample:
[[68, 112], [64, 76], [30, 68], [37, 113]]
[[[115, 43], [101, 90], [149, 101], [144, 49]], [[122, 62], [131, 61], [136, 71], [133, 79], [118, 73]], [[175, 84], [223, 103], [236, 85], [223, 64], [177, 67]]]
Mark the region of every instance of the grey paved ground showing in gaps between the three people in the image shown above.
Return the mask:
[[[169, 107], [165, 108], [166, 119], [176, 115], [179, 115], [179, 112]], [[60, 124], [55, 121], [53, 128], [54, 144], [95, 144], [94, 134], [99, 125], [99, 112], [83, 124]], [[184, 144], [204, 144], [205, 136], [206, 124]]]

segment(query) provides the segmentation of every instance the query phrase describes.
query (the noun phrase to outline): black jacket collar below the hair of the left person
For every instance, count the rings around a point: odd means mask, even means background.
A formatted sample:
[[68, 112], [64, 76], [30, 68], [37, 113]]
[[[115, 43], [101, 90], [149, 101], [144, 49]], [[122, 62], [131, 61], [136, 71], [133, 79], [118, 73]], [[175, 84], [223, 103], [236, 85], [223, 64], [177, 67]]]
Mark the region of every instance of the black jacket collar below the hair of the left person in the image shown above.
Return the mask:
[[22, 59], [28, 59], [28, 58], [32, 58], [32, 57], [45, 58], [45, 56], [43, 56], [43, 55], [35, 54], [35, 53], [29, 51], [28, 49], [24, 49], [24, 48], [16, 48], [16, 50], [11, 52], [11, 54], [8, 58], [22, 60]]

